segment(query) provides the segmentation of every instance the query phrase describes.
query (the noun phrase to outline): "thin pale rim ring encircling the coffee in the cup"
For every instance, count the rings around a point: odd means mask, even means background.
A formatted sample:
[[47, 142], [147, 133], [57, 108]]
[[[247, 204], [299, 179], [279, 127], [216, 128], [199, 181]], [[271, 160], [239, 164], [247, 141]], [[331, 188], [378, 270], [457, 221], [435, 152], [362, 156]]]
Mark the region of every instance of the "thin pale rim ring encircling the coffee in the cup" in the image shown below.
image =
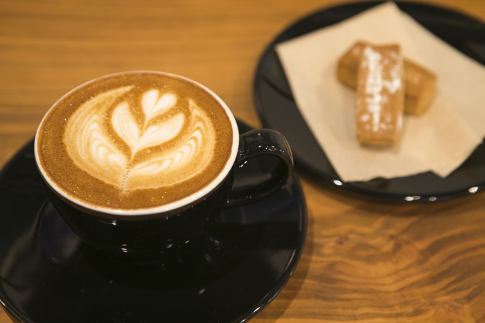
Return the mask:
[[[232, 146], [231, 146], [231, 154], [229, 155], [229, 158], [227, 158], [227, 161], [222, 168], [221, 172], [219, 172], [218, 176], [202, 187], [202, 189], [197, 190], [196, 192], [193, 192], [192, 194], [179, 199], [177, 201], [173, 201], [164, 205], [159, 205], [159, 206], [154, 206], [154, 207], [141, 207], [137, 209], [121, 209], [121, 208], [110, 208], [110, 207], [103, 207], [103, 206], [97, 206], [97, 205], [92, 205], [91, 203], [85, 203], [85, 201], [82, 201], [80, 199], [75, 199], [73, 196], [70, 196], [69, 194], [66, 194], [57, 183], [52, 181], [52, 179], [48, 176], [47, 172], [45, 171], [44, 167], [42, 167], [40, 160], [39, 160], [39, 154], [38, 154], [38, 148], [37, 148], [37, 139], [39, 136], [39, 130], [42, 128], [42, 124], [44, 124], [44, 121], [46, 120], [46, 117], [48, 116], [48, 113], [52, 110], [55, 109], [57, 104], [64, 100], [68, 95], [71, 93], [78, 91], [81, 89], [83, 86], [86, 86], [87, 84], [91, 84], [94, 82], [97, 82], [98, 80], [102, 80], [105, 78], [109, 77], [114, 77], [116, 75], [123, 75], [123, 74], [143, 74], [143, 73], [149, 73], [149, 74], [161, 74], [161, 75], [168, 75], [169, 77], [175, 77], [179, 78], [181, 80], [185, 80], [186, 82], [189, 82], [195, 86], [200, 87], [202, 90], [206, 91], [211, 95], [215, 100], [217, 100], [226, 112], [227, 117], [229, 118], [229, 123], [231, 124], [231, 129], [232, 129]], [[161, 213], [169, 213], [173, 212], [175, 210], [183, 209], [185, 207], [188, 207], [192, 205], [193, 203], [203, 199], [205, 196], [209, 195], [211, 192], [213, 192], [216, 188], [219, 187], [219, 185], [224, 181], [224, 179], [229, 175], [229, 172], [231, 172], [231, 169], [233, 167], [233, 164], [236, 160], [236, 156], [238, 154], [238, 146], [239, 146], [239, 130], [238, 130], [238, 124], [236, 123], [236, 118], [234, 118], [233, 113], [227, 107], [227, 104], [217, 95], [215, 94], [211, 89], [208, 87], [204, 86], [203, 84], [200, 84], [199, 82], [192, 80], [188, 77], [184, 77], [182, 75], [177, 75], [175, 73], [168, 73], [168, 72], [161, 72], [161, 71], [145, 71], [145, 70], [136, 70], [136, 71], [124, 71], [124, 72], [118, 72], [118, 73], [110, 73], [107, 75], [103, 75], [100, 77], [96, 77], [92, 80], [89, 80], [87, 82], [84, 82], [75, 88], [71, 89], [71, 91], [65, 93], [62, 95], [58, 100], [55, 101], [54, 104], [51, 105], [51, 107], [46, 111], [44, 114], [44, 117], [42, 118], [41, 122], [39, 123], [39, 127], [37, 127], [37, 131], [35, 132], [35, 140], [34, 140], [34, 154], [35, 154], [35, 163], [37, 164], [37, 168], [39, 169], [39, 172], [41, 173], [42, 178], [44, 178], [44, 181], [50, 186], [57, 194], [59, 194], [63, 199], [66, 199], [67, 201], [70, 201], [74, 205], [79, 205], [83, 209], [86, 210], [91, 210], [95, 212], [96, 214], [109, 214], [112, 216], [152, 216], [155, 214], [161, 214]]]

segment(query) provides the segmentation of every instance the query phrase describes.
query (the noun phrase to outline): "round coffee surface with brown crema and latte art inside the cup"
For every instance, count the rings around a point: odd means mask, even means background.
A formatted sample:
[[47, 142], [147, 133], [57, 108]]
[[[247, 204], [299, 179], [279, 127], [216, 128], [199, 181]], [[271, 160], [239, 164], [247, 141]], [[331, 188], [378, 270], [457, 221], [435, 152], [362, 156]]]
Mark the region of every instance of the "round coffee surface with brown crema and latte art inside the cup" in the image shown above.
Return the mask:
[[64, 95], [37, 131], [40, 167], [92, 207], [136, 210], [202, 190], [226, 167], [233, 129], [201, 86], [164, 73], [101, 77]]

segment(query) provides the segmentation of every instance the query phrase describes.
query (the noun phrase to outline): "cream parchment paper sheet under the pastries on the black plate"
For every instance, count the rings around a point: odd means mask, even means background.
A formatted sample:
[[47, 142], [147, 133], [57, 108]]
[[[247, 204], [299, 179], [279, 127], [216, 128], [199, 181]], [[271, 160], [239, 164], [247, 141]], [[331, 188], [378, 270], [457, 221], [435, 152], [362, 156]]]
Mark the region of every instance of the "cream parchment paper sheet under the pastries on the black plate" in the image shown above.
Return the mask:
[[[398, 147], [370, 149], [355, 138], [355, 91], [336, 76], [355, 41], [400, 44], [403, 55], [438, 76], [423, 116], [406, 116]], [[344, 181], [448, 176], [485, 136], [485, 68], [419, 25], [392, 2], [276, 46], [297, 106]]]

